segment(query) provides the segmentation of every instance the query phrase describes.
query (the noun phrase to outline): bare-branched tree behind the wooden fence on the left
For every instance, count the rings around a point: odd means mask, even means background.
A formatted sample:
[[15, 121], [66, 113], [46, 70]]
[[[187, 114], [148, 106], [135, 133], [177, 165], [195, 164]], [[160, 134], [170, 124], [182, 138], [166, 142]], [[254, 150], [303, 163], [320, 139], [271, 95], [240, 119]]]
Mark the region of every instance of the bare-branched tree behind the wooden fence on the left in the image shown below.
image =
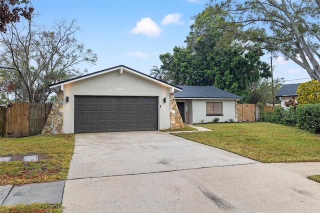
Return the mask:
[[75, 65], [95, 64], [97, 57], [77, 43], [74, 35], [79, 30], [75, 20], [57, 20], [50, 29], [32, 21], [21, 29], [11, 23], [0, 35], [2, 92], [15, 101], [45, 102], [52, 93], [49, 84], [83, 74], [86, 70]]

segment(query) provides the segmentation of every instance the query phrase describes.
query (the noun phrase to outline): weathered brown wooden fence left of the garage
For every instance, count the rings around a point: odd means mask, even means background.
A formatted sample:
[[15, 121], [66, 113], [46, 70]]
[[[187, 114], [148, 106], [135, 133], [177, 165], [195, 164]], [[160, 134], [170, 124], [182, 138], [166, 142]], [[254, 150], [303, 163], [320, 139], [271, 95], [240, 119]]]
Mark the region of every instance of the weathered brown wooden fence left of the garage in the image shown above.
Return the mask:
[[[8, 137], [40, 134], [51, 106], [52, 103], [9, 103], [7, 107], [1, 107], [0, 134]], [[3, 113], [4, 117], [1, 116]]]

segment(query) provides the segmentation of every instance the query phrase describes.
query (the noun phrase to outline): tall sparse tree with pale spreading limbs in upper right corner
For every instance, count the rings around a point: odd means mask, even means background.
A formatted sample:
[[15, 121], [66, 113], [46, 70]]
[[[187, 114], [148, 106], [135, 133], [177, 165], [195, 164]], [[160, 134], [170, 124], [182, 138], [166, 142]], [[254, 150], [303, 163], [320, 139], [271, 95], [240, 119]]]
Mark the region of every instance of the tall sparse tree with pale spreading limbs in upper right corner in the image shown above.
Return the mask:
[[214, 6], [223, 11], [226, 23], [219, 27], [228, 35], [282, 54], [320, 80], [320, 0], [222, 0]]

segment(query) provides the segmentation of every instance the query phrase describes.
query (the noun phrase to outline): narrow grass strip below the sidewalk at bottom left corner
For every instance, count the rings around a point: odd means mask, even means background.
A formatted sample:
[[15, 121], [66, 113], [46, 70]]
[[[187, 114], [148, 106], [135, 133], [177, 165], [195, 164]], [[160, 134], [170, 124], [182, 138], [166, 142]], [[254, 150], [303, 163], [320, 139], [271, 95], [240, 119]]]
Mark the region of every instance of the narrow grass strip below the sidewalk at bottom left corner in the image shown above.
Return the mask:
[[30, 205], [17, 204], [17, 205], [0, 205], [0, 212], [7, 213], [61, 213], [63, 207], [61, 203], [47, 204], [47, 203], [33, 203]]

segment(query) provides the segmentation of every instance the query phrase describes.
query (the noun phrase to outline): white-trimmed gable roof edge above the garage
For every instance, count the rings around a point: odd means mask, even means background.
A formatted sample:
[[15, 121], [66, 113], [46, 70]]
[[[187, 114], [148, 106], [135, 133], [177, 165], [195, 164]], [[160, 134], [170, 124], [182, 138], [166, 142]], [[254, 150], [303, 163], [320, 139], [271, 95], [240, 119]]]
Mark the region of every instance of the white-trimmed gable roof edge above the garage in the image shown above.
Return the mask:
[[151, 77], [150, 75], [144, 74], [142, 72], [139, 72], [137, 70], [131, 69], [131, 68], [129, 68], [127, 66], [124, 66], [124, 65], [114, 66], [114, 67], [111, 67], [111, 68], [107, 68], [107, 69], [103, 69], [103, 70], [100, 70], [100, 71], [92, 72], [92, 73], [89, 73], [89, 74], [81, 75], [81, 76], [78, 76], [78, 77], [75, 77], [75, 78], [71, 78], [69, 80], [64, 80], [64, 81], [60, 81], [60, 82], [57, 82], [57, 83], [53, 83], [53, 84], [49, 85], [49, 88], [52, 89], [53, 91], [57, 92], [58, 90], [63, 90], [63, 85], [64, 84], [75, 82], [75, 81], [78, 81], [78, 80], [83, 80], [83, 79], [86, 79], [86, 78], [89, 78], [89, 77], [93, 77], [93, 76], [104, 74], [104, 73], [111, 72], [111, 71], [119, 71], [120, 74], [123, 71], [127, 71], [127, 72], [130, 72], [132, 74], [138, 75], [138, 76], [140, 76], [142, 78], [145, 78], [145, 79], [148, 79], [148, 80], [153, 81], [155, 83], [158, 83], [160, 85], [169, 87], [170, 88], [170, 92], [181, 91], [181, 88], [179, 88], [177, 86], [174, 86], [172, 84], [166, 83], [166, 82], [161, 81], [161, 80], [158, 80], [158, 79], [156, 79], [154, 77]]

